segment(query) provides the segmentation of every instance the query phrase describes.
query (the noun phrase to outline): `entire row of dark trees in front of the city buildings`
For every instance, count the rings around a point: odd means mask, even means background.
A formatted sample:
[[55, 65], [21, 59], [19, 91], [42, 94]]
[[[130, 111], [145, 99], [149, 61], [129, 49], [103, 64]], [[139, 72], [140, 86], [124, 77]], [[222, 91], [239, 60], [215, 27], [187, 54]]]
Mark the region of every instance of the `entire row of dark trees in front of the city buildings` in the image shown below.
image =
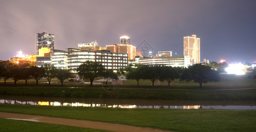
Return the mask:
[[[117, 73], [114, 73], [113, 70], [105, 69], [102, 64], [98, 62], [87, 61], [81, 64], [77, 68], [77, 73], [80, 78], [83, 80], [89, 79], [90, 85], [93, 84], [93, 81], [96, 77], [105, 78], [106, 84], [110, 79], [117, 80]], [[188, 68], [181, 67], [171, 67], [171, 66], [145, 66], [137, 65], [136, 68], [132, 68], [130, 65], [125, 69], [120, 69], [119, 74], [126, 71], [127, 79], [136, 80], [137, 85], [139, 85], [140, 80], [150, 80], [152, 85], [154, 82], [159, 80], [161, 82], [167, 81], [168, 86], [170, 83], [178, 78], [180, 81], [194, 81], [200, 84], [202, 87], [203, 83], [207, 82], [217, 82], [220, 80], [219, 72], [213, 70], [211, 66], [206, 66], [202, 64], [195, 64], [188, 66]], [[9, 61], [0, 62], [0, 77], [4, 79], [4, 84], [6, 80], [11, 78], [16, 84], [19, 80], [24, 80], [25, 84], [29, 79], [34, 79], [36, 84], [38, 81], [45, 77], [48, 83], [51, 83], [51, 79], [57, 77], [61, 84], [63, 81], [68, 78], [74, 77], [72, 73], [69, 73], [68, 70], [58, 69], [50, 65], [46, 66], [19, 66], [10, 63]]]

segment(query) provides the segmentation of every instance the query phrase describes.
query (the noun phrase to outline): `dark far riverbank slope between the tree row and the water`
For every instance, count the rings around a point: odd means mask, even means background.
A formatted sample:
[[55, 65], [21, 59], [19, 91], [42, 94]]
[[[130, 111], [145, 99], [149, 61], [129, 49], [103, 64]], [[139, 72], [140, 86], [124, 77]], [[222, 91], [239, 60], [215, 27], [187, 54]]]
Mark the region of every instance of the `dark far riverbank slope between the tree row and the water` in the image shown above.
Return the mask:
[[[71, 87], [73, 86], [73, 87]], [[107, 91], [106, 88], [110, 91]], [[0, 84], [0, 95], [99, 99], [256, 100], [250, 85], [134, 86]]]

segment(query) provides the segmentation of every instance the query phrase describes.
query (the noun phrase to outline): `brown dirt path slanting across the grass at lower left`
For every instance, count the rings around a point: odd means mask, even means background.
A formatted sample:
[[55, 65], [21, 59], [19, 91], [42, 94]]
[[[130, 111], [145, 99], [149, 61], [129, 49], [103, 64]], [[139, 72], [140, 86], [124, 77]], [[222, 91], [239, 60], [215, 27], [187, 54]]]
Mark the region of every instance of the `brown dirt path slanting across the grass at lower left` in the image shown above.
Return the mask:
[[59, 124], [59, 125], [69, 125], [69, 126], [75, 126], [75, 127], [108, 130], [113, 132], [171, 132], [171, 131], [164, 131], [164, 130], [154, 129], [154, 128], [119, 125], [119, 124], [103, 123], [103, 122], [96, 122], [96, 121], [74, 120], [74, 119], [44, 117], [44, 116], [35, 116], [35, 115], [27, 115], [27, 114], [5, 113], [5, 112], [0, 112], [0, 118], [25, 120], [25, 121], [38, 121], [38, 122], [45, 122], [45, 123], [52, 123], [52, 124]]

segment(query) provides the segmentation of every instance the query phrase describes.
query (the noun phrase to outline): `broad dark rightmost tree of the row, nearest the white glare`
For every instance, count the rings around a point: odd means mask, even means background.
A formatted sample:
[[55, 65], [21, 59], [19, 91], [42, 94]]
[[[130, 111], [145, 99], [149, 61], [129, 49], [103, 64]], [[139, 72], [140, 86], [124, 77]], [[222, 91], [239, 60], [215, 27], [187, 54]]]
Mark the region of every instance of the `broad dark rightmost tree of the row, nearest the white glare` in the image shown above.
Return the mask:
[[192, 81], [199, 83], [200, 87], [202, 84], [207, 82], [217, 82], [220, 80], [219, 73], [216, 70], [212, 70], [210, 66], [205, 66], [201, 64], [195, 64], [185, 68], [181, 74], [180, 81]]

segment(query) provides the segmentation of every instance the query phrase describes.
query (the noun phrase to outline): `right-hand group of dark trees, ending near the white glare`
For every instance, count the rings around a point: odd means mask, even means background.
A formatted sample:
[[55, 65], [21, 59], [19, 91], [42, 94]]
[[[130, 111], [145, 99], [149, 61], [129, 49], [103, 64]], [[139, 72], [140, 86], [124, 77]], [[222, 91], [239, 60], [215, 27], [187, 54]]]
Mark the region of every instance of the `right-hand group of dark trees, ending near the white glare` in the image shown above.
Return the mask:
[[188, 66], [188, 68], [139, 65], [127, 74], [127, 79], [136, 80], [137, 85], [139, 85], [139, 80], [150, 80], [152, 85], [154, 85], [154, 81], [159, 80], [161, 82], [167, 81], [169, 86], [172, 81], [178, 78], [180, 81], [193, 80], [195, 83], [199, 83], [200, 87], [203, 83], [220, 80], [218, 71], [202, 64], [195, 64]]

